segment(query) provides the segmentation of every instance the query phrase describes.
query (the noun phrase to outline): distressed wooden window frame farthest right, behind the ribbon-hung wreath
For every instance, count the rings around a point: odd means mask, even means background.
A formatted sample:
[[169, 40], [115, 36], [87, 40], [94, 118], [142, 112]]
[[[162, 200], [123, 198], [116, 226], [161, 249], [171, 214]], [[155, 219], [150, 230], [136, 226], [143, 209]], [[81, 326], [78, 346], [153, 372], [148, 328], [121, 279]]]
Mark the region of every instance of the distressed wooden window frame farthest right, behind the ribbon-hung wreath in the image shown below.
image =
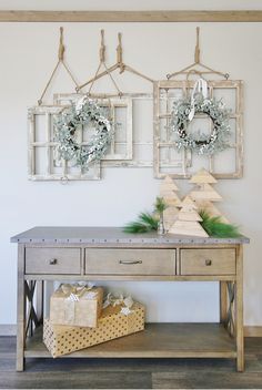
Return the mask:
[[[162, 167], [181, 167], [180, 173], [170, 173], [169, 175], [173, 178], [189, 178], [191, 174], [188, 172], [188, 167], [191, 164], [192, 153], [190, 151], [182, 150], [180, 152], [181, 160], [178, 160], [177, 164], [168, 164], [167, 162], [161, 165], [160, 151], [161, 147], [175, 147], [174, 142], [161, 142], [160, 134], [160, 121], [162, 119], [170, 117], [170, 112], [165, 114], [160, 113], [160, 103], [164, 99], [161, 91], [168, 91], [170, 89], [181, 90], [183, 94], [187, 93], [187, 89], [192, 89], [194, 81], [187, 80], [163, 80], [154, 82], [154, 177], [162, 178], [167, 173], [161, 173]], [[226, 80], [226, 81], [209, 81], [210, 96], [213, 95], [214, 89], [233, 89], [235, 90], [235, 112], [230, 115], [230, 119], [235, 120], [235, 143], [231, 144], [231, 148], [235, 150], [235, 171], [230, 173], [214, 172], [213, 170], [213, 157], [209, 158], [209, 170], [216, 178], [241, 178], [243, 176], [243, 82], [240, 80]]]

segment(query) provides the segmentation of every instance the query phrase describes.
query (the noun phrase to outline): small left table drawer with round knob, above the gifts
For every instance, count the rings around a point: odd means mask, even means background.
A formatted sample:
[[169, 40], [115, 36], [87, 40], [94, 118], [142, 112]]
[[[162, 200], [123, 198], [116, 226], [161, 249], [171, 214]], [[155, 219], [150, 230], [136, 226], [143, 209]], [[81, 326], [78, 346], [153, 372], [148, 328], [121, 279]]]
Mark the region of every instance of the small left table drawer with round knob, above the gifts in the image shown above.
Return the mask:
[[26, 248], [26, 274], [79, 275], [80, 264], [80, 248]]

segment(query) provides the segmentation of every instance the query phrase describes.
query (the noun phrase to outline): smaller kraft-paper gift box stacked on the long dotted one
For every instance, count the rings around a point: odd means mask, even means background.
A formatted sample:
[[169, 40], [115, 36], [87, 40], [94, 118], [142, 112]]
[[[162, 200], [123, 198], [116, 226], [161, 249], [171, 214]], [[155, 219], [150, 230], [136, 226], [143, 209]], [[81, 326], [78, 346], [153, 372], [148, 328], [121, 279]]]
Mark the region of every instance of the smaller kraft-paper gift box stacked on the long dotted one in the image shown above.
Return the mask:
[[60, 285], [50, 299], [50, 321], [54, 325], [97, 327], [103, 305], [103, 289]]

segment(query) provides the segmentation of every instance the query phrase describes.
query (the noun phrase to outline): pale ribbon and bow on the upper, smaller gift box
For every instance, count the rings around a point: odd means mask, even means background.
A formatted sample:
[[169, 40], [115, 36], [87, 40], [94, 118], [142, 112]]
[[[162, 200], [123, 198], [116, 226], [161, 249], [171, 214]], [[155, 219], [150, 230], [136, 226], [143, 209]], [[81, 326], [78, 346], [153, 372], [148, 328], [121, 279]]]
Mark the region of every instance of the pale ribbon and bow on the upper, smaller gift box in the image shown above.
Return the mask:
[[73, 324], [75, 302], [78, 302], [80, 298], [94, 299], [97, 296], [97, 292], [90, 291], [93, 288], [91, 284], [62, 284], [59, 288], [66, 297], [64, 320], [67, 324]]

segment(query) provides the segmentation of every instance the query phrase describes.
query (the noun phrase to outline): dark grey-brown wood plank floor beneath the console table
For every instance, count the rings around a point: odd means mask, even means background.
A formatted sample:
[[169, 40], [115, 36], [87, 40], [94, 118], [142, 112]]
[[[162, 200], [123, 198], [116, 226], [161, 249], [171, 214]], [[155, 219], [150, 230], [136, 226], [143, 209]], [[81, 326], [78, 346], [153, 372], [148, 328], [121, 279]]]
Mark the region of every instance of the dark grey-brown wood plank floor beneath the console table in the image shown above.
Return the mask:
[[245, 339], [245, 371], [230, 359], [28, 359], [0, 337], [0, 389], [262, 389], [262, 338]]

